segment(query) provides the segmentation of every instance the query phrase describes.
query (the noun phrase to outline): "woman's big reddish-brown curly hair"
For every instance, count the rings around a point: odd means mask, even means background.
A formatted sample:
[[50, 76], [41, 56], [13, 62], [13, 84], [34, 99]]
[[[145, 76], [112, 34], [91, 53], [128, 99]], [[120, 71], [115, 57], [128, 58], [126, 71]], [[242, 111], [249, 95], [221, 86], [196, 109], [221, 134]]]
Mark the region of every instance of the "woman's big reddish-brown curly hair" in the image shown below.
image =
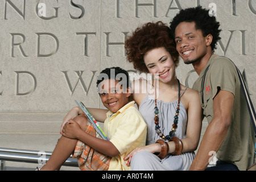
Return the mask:
[[137, 71], [148, 73], [143, 57], [147, 51], [159, 47], [166, 48], [174, 59], [175, 65], [179, 64], [179, 53], [171, 37], [170, 27], [160, 21], [143, 24], [125, 42], [127, 60], [133, 63]]

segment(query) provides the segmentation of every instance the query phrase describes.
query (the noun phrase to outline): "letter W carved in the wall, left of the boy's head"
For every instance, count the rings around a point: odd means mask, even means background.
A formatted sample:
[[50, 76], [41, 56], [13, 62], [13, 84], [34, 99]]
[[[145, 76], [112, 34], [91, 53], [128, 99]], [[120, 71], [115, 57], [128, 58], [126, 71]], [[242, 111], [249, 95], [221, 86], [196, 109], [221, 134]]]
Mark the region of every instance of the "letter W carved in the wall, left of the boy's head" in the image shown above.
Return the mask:
[[79, 81], [81, 82], [82, 87], [84, 88], [84, 91], [86, 92], [86, 96], [87, 96], [87, 94], [88, 94], [88, 92], [89, 92], [89, 89], [90, 89], [90, 85], [92, 84], [93, 77], [94, 77], [94, 75], [95, 75], [95, 73], [96, 73], [97, 71], [92, 71], [93, 75], [92, 75], [92, 77], [90, 78], [90, 83], [89, 83], [88, 89], [87, 89], [86, 86], [85, 86], [84, 80], [82, 80], [82, 73], [83, 73], [84, 71], [74, 71], [74, 72], [76, 72], [76, 74], [77, 74], [77, 76], [78, 76], [77, 81], [76, 81], [74, 87], [72, 87], [72, 85], [71, 85], [71, 81], [69, 80], [69, 77], [68, 77], [68, 72], [67, 72], [67, 71], [61, 71], [61, 72], [63, 72], [64, 75], [65, 75], [65, 78], [66, 78], [67, 83], [68, 83], [68, 86], [69, 86], [69, 90], [71, 91], [71, 96], [73, 95], [73, 93], [74, 93], [74, 91], [75, 91], [75, 89], [76, 89], [76, 86], [77, 86], [77, 84], [79, 83]]

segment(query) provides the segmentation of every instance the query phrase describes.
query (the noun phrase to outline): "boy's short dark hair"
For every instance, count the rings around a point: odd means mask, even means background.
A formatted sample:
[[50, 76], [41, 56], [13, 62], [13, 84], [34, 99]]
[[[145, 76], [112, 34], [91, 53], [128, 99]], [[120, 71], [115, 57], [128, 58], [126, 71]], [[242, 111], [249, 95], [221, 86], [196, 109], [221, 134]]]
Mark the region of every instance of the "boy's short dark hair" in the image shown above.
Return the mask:
[[100, 82], [108, 79], [113, 79], [117, 81], [122, 81], [121, 83], [126, 83], [126, 85], [121, 85], [124, 89], [130, 86], [129, 73], [125, 69], [122, 69], [120, 67], [106, 68], [102, 70], [97, 77], [97, 88]]

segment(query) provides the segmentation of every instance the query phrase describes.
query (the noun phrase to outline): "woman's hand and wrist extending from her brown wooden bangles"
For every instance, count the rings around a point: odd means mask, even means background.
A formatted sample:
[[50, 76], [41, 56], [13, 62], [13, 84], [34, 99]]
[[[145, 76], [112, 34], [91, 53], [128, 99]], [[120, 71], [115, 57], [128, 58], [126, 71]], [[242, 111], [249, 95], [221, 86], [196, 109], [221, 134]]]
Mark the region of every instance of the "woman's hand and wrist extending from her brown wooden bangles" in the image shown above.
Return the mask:
[[148, 146], [142, 146], [142, 147], [136, 147], [134, 148], [133, 151], [130, 152], [130, 154], [128, 154], [124, 160], [127, 160], [127, 166], [129, 166], [129, 164], [131, 163], [131, 158], [137, 154], [138, 152], [140, 151], [148, 151], [148, 152], [151, 152], [152, 154], [155, 153], [155, 152], [160, 152], [160, 144], [159, 143], [154, 143], [154, 144], [150, 144]]

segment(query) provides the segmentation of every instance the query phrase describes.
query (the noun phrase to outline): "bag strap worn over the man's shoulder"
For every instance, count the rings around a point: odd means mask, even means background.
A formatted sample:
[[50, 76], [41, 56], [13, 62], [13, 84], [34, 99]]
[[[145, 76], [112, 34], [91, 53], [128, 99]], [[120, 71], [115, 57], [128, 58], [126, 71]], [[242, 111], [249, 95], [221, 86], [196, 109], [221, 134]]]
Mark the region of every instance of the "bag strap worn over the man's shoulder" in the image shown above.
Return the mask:
[[[220, 57], [224, 57], [224, 56], [220, 56]], [[228, 57], [226, 57], [226, 58], [228, 58]], [[233, 63], [232, 60], [230, 60], [230, 61]], [[243, 76], [242, 76], [240, 70], [237, 68], [236, 64], [234, 64], [234, 65], [235, 65], [235, 67], [237, 69], [238, 77], [239, 77], [239, 80], [240, 80], [240, 83], [241, 83], [241, 87], [242, 87], [242, 90], [243, 90], [243, 95], [245, 96], [246, 104], [247, 104], [247, 107], [248, 107], [248, 110], [249, 110], [251, 122], [253, 123], [254, 133], [256, 134], [256, 114], [255, 114], [255, 110], [254, 110], [254, 107], [253, 107], [253, 102], [251, 102], [251, 98], [250, 98], [249, 92], [248, 92], [248, 90], [246, 88], [245, 80], [243, 79]], [[208, 66], [207, 70], [204, 73], [204, 77], [203, 77], [203, 81], [202, 81], [202, 86], [203, 86], [203, 82], [204, 82], [204, 78], [205, 78], [206, 72], [209, 69], [209, 66]], [[204, 89], [204, 87], [203, 87], [203, 89]], [[203, 98], [204, 98], [204, 94], [203, 94]], [[255, 137], [256, 137], [256, 135], [255, 135]]]

